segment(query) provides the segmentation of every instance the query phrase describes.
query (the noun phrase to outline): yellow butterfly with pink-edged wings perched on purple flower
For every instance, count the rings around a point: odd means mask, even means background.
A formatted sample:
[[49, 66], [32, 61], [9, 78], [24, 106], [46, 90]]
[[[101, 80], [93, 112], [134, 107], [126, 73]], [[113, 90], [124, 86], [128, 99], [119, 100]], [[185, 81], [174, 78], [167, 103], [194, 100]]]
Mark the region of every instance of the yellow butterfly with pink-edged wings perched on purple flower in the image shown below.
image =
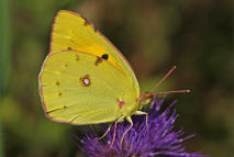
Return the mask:
[[38, 87], [52, 121], [85, 125], [126, 119], [129, 130], [131, 115], [147, 115], [141, 109], [154, 96], [140, 92], [130, 64], [108, 38], [85, 18], [65, 10], [55, 16]]

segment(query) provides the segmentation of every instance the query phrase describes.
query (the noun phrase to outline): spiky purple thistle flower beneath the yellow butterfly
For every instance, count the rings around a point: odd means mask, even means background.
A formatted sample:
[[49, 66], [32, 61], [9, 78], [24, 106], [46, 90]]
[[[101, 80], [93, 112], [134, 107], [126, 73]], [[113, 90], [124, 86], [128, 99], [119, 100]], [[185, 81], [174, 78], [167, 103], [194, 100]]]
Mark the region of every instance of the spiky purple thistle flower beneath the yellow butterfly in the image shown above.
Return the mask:
[[[199, 153], [186, 153], [182, 142], [193, 137], [189, 135], [181, 137], [183, 131], [174, 131], [174, 123], [178, 117], [176, 110], [170, 113], [174, 101], [165, 110], [160, 111], [165, 99], [154, 99], [148, 112], [148, 132], [144, 115], [133, 115], [133, 127], [127, 132], [121, 146], [123, 133], [130, 126], [127, 122], [118, 124], [116, 137], [113, 146], [110, 144], [113, 138], [114, 127], [108, 135], [99, 141], [97, 133], [87, 131], [85, 137], [77, 143], [78, 147], [89, 157], [208, 157]], [[83, 146], [81, 146], [81, 145]]]

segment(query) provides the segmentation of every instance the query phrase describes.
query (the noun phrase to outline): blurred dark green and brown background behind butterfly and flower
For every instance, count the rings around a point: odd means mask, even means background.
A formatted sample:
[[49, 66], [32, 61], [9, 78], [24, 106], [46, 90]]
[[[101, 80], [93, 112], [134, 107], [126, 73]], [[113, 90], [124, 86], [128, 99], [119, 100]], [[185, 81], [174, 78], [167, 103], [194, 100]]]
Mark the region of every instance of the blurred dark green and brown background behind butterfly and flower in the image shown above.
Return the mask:
[[69, 132], [41, 106], [37, 76], [48, 54], [54, 15], [80, 13], [126, 56], [149, 90], [177, 65], [159, 91], [190, 89], [178, 99], [176, 125], [187, 150], [233, 157], [234, 1], [232, 0], [1, 0], [0, 157], [80, 157]]

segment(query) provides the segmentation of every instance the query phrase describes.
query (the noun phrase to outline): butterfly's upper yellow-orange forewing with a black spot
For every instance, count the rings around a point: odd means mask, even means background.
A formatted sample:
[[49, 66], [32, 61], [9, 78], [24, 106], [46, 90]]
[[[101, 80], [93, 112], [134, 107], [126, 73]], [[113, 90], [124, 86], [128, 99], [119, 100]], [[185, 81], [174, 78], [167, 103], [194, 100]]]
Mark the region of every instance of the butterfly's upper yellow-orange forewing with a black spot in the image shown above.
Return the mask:
[[99, 57], [108, 56], [108, 61], [125, 74], [134, 92], [140, 96], [138, 82], [131, 66], [113, 44], [79, 14], [62, 10], [53, 24], [51, 53], [64, 49], [75, 49]]

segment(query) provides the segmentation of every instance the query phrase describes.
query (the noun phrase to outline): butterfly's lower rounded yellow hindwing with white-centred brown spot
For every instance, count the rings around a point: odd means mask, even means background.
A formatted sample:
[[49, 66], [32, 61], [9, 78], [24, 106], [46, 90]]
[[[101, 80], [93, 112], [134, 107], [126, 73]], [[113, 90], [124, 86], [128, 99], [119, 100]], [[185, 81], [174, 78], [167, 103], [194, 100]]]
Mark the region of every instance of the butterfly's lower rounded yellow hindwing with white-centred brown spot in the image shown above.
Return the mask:
[[120, 101], [132, 108], [136, 98], [122, 70], [103, 58], [76, 51], [47, 56], [40, 91], [49, 119], [74, 124], [112, 122], [122, 114]]

